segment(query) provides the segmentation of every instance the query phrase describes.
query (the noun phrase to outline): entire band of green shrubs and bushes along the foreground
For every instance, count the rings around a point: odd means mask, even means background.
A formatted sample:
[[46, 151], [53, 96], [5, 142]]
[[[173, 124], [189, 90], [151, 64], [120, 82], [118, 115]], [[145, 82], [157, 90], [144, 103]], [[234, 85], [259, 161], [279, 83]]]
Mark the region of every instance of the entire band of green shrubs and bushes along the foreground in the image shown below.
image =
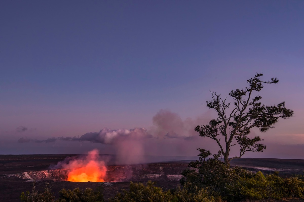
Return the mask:
[[[109, 199], [110, 202], [217, 202], [261, 199], [304, 199], [304, 176], [279, 177], [278, 173], [264, 175], [253, 173], [242, 167], [229, 167], [219, 160], [220, 154], [207, 159], [209, 151], [199, 149], [199, 160], [191, 162], [181, 179], [182, 188], [162, 190], [154, 183], [130, 183], [129, 190], [122, 190]], [[62, 189], [55, 197], [49, 184], [43, 192], [35, 187], [30, 193], [22, 192], [20, 198], [26, 202], [102, 202], [102, 189]]]

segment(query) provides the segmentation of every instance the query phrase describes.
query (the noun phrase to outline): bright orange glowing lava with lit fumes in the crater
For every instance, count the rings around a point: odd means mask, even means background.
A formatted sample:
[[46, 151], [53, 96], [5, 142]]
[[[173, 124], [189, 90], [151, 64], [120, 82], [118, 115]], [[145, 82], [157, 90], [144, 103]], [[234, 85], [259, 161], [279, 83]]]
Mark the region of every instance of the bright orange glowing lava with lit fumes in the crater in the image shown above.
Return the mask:
[[98, 151], [88, 153], [85, 159], [69, 162], [67, 181], [71, 182], [103, 182], [106, 174], [104, 161], [98, 161]]

